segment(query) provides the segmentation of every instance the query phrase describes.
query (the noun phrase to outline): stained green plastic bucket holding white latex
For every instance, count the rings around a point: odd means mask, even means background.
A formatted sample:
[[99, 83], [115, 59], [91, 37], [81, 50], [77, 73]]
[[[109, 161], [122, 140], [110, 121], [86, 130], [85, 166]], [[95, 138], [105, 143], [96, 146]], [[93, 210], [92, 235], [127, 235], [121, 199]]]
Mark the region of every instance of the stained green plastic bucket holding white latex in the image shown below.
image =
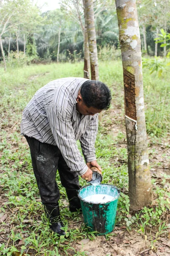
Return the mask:
[[[94, 194], [111, 195], [113, 196], [113, 200], [106, 203], [85, 201], [84, 198]], [[105, 235], [113, 231], [119, 195], [119, 189], [116, 186], [108, 184], [99, 184], [97, 186], [88, 185], [79, 190], [84, 222], [91, 231], [97, 231], [100, 235]]]

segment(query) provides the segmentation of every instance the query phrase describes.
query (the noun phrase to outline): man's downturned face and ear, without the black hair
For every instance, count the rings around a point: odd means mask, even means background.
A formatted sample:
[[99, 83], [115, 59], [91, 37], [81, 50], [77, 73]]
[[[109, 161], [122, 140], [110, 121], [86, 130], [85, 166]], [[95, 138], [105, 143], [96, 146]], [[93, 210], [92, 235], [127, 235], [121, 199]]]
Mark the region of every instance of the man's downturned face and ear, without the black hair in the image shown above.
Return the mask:
[[77, 104], [76, 104], [76, 109], [77, 111], [82, 114], [82, 115], [85, 115], [85, 116], [94, 116], [96, 113], [100, 113], [102, 112], [102, 110], [99, 110], [97, 108], [93, 108], [93, 107], [90, 107], [88, 108], [84, 102], [83, 102], [83, 99], [81, 97], [81, 95], [77, 96]]

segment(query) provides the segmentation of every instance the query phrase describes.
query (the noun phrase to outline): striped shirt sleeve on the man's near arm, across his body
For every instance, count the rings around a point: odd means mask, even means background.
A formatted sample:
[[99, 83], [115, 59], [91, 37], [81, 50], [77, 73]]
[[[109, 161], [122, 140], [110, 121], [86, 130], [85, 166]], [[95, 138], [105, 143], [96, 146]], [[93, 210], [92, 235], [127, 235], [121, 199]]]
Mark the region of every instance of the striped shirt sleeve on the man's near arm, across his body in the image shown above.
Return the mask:
[[88, 169], [77, 147], [71, 117], [62, 108], [50, 105], [46, 109], [48, 122], [56, 144], [71, 171], [83, 175]]

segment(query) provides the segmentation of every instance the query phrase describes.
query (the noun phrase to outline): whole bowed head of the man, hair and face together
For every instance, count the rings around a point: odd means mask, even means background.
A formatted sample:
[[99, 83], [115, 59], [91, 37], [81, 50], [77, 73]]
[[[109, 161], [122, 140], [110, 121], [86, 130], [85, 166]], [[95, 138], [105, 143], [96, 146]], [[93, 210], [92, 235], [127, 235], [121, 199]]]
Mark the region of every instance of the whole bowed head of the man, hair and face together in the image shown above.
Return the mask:
[[110, 107], [111, 91], [100, 81], [88, 80], [82, 84], [76, 100], [79, 113], [93, 116]]

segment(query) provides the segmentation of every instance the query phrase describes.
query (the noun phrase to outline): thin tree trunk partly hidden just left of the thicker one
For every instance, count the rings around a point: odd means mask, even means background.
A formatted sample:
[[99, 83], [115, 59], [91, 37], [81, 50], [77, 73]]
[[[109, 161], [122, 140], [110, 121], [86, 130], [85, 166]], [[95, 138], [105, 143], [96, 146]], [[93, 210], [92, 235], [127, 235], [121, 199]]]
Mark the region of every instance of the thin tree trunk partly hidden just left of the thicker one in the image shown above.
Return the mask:
[[90, 79], [90, 54], [89, 54], [89, 47], [88, 47], [88, 31], [87, 31], [87, 20], [86, 20], [86, 13], [85, 13], [85, 0], [83, 0], [84, 6], [84, 17], [85, 17], [85, 26], [84, 26], [84, 78]]

